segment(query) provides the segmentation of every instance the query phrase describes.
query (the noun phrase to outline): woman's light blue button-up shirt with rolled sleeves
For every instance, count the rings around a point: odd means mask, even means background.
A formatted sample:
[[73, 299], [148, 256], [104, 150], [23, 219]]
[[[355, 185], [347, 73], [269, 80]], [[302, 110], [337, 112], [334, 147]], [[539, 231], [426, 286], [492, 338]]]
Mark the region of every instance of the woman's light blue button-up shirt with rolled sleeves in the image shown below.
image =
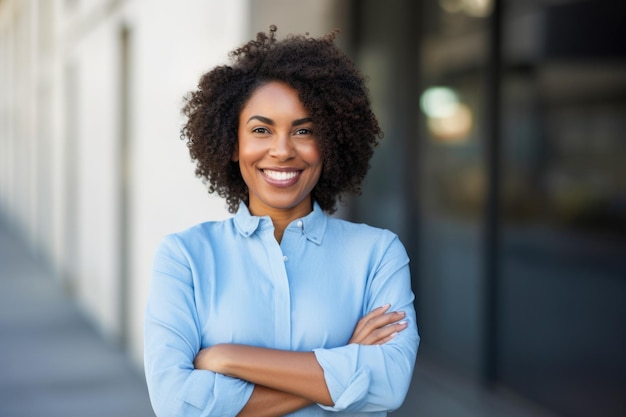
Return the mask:
[[[313, 212], [280, 244], [269, 217], [241, 204], [228, 220], [167, 236], [153, 265], [145, 318], [145, 372], [165, 416], [235, 416], [253, 385], [195, 370], [198, 351], [238, 343], [313, 351], [334, 407], [292, 416], [385, 416], [409, 387], [419, 336], [409, 259], [387, 230]], [[349, 344], [376, 307], [406, 312], [408, 327], [384, 345]]]

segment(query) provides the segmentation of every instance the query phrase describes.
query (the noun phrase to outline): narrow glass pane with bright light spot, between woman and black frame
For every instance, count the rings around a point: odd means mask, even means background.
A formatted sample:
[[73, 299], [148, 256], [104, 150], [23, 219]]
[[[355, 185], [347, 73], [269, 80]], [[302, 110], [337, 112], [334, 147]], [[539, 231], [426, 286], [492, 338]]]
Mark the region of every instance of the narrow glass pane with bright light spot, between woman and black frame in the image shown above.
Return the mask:
[[485, 66], [489, 2], [424, 1], [417, 171], [425, 348], [478, 377], [484, 348]]

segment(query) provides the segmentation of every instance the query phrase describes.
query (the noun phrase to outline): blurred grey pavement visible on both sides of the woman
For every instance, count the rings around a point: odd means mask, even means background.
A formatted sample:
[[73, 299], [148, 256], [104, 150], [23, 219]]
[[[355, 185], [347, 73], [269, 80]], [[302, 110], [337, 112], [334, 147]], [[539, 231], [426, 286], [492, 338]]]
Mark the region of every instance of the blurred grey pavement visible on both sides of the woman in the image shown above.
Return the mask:
[[[147, 417], [143, 375], [107, 344], [0, 222], [0, 416]], [[554, 417], [418, 356], [390, 417]]]

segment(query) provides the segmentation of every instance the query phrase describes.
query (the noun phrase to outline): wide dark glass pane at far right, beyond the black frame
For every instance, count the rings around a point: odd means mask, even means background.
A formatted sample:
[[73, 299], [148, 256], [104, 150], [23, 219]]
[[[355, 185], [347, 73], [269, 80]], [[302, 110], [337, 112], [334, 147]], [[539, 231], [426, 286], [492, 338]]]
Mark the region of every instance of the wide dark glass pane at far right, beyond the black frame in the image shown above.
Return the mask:
[[499, 379], [565, 415], [617, 416], [626, 3], [505, 4]]

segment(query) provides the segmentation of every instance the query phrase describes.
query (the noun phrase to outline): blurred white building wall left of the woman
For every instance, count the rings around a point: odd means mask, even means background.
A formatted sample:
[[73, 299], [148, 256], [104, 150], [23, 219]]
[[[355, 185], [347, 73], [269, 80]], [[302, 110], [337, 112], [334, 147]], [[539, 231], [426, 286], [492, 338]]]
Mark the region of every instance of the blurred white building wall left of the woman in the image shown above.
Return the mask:
[[[228, 216], [194, 175], [179, 139], [180, 109], [200, 75], [243, 42], [246, 6], [0, 3], [0, 214], [50, 263], [100, 331], [112, 342], [126, 340], [138, 364], [158, 241]], [[123, 28], [130, 50], [127, 148]]]

